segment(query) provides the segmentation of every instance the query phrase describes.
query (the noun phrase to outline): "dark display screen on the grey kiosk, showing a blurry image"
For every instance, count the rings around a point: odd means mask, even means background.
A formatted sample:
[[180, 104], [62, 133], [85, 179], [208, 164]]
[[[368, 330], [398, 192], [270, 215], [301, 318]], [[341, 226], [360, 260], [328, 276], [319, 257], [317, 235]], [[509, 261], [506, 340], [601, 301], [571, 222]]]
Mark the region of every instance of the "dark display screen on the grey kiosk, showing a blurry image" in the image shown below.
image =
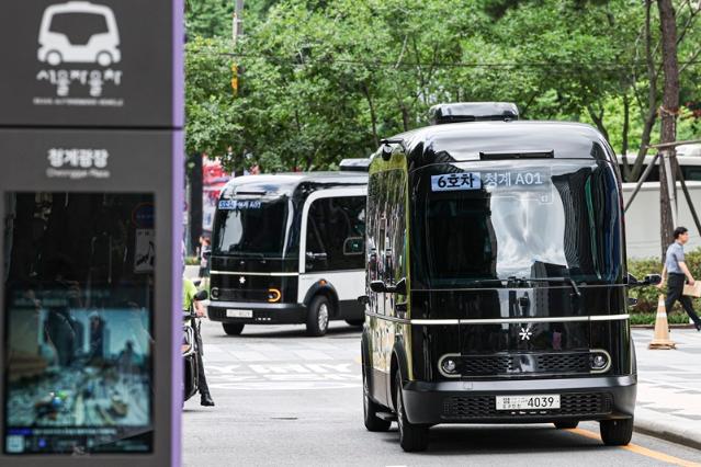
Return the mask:
[[2, 203], [3, 452], [151, 453], [154, 195]]

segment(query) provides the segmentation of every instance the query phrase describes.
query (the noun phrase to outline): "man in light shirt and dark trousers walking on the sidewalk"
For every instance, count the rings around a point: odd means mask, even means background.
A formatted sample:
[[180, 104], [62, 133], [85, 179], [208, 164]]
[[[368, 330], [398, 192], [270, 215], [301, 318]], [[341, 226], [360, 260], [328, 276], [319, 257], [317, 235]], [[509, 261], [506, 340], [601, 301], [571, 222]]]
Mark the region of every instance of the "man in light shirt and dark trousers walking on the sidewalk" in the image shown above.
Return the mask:
[[693, 285], [696, 280], [691, 275], [683, 257], [683, 246], [689, 241], [689, 229], [686, 227], [677, 227], [675, 229], [675, 242], [667, 248], [665, 258], [665, 267], [663, 269], [663, 281], [657, 286], [663, 288], [667, 283], [667, 299], [665, 300], [665, 309], [671, 311], [671, 307], [677, 300], [681, 304], [689, 318], [697, 327], [697, 331], [701, 331], [701, 319], [693, 310], [691, 298], [683, 295], [685, 280], [689, 285]]

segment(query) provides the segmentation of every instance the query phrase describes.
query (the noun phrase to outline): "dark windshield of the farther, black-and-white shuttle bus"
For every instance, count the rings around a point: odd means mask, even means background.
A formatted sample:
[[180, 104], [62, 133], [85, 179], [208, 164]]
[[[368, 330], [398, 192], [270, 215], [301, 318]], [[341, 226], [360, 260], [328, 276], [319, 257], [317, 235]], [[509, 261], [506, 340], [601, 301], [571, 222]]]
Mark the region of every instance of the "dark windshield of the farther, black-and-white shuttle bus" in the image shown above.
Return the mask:
[[282, 258], [289, 200], [221, 200], [214, 219], [213, 254]]

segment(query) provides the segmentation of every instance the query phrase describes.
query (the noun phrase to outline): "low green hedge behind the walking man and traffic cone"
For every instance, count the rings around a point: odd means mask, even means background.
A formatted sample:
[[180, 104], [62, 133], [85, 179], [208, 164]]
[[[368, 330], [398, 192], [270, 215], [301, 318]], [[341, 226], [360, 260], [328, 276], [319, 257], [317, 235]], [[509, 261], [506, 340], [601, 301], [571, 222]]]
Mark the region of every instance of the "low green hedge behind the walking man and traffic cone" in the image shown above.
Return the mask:
[[[691, 274], [697, 281], [701, 280], [701, 249], [689, 251], [685, 255], [686, 263], [691, 271]], [[645, 260], [629, 260], [627, 272], [633, 274], [640, 281], [647, 274], [660, 274], [663, 264], [659, 260], [649, 258]], [[629, 289], [629, 296], [637, 298], [637, 305], [631, 307], [632, 314], [654, 314], [657, 311], [657, 297], [659, 294], [666, 294], [666, 291], [659, 291], [657, 287], [632, 287]], [[693, 308], [701, 309], [701, 299], [693, 298]], [[669, 314], [669, 310], [667, 310]], [[672, 315], [669, 317], [670, 322], [676, 319], [675, 315], [679, 316], [679, 322], [688, 322], [687, 314], [681, 309], [681, 305], [677, 303], [672, 309]]]

